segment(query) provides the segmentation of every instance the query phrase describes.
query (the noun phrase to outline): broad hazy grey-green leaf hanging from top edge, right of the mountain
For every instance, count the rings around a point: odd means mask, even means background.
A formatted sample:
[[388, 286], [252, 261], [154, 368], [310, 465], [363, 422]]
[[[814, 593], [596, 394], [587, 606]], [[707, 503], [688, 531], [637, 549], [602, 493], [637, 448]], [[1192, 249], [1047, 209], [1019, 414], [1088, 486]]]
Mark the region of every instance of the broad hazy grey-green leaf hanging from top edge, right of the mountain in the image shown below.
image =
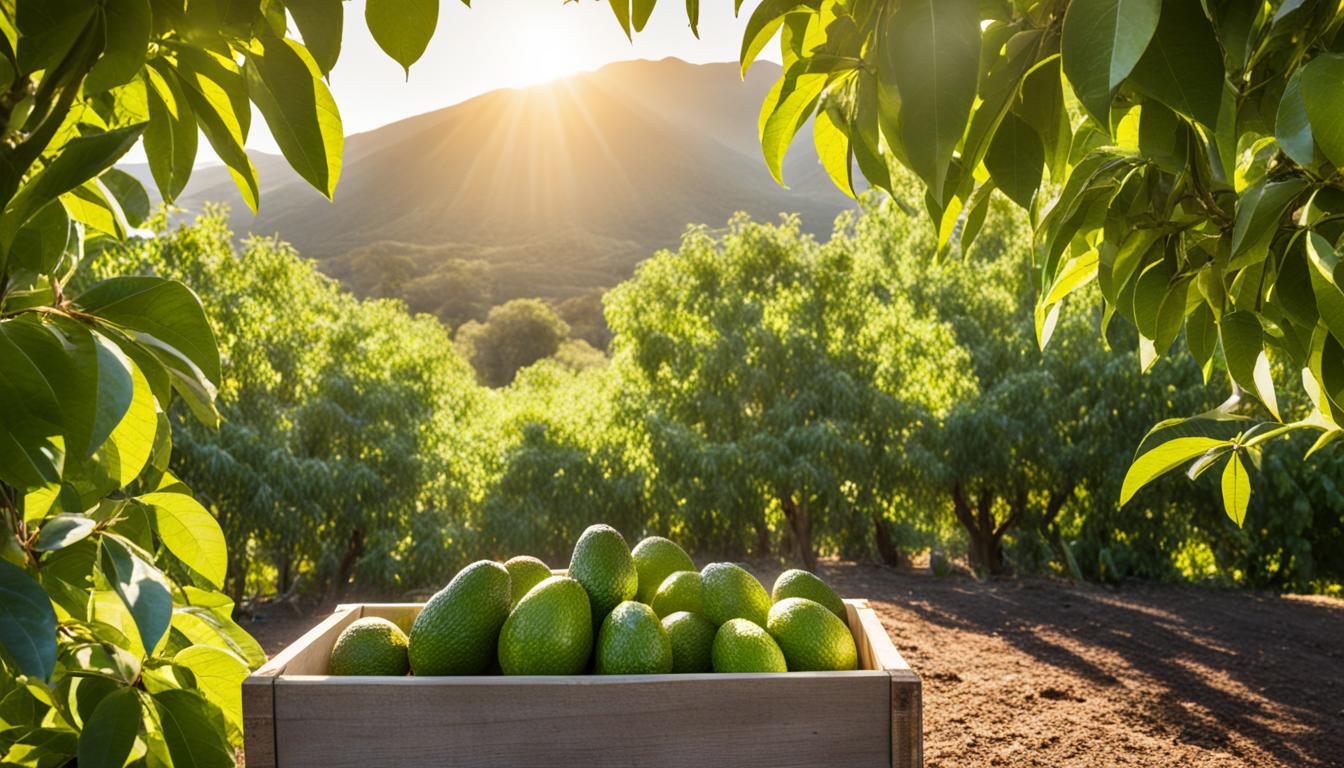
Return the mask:
[[879, 78], [900, 93], [900, 141], [910, 168], [943, 199], [952, 155], [966, 129], [980, 71], [976, 0], [910, 0], [891, 15]]

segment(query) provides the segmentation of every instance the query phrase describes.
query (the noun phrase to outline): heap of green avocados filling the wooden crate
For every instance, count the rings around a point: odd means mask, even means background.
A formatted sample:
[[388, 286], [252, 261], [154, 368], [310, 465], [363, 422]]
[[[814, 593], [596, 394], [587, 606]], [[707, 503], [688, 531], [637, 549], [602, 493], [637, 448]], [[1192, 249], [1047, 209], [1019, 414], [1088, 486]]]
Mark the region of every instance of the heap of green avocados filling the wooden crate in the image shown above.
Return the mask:
[[333, 675], [599, 675], [857, 668], [844, 601], [805, 570], [773, 593], [741, 566], [695, 569], [649, 537], [632, 551], [606, 525], [579, 537], [569, 576], [535, 557], [464, 568], [410, 633], [359, 619], [332, 648]]

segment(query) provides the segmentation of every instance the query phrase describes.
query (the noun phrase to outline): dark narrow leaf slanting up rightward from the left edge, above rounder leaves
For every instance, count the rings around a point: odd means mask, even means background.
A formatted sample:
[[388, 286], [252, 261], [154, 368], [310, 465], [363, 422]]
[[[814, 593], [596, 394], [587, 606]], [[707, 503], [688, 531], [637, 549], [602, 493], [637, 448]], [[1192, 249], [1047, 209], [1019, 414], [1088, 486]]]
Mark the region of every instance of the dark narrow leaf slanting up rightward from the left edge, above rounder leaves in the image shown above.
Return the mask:
[[0, 218], [0, 249], [8, 252], [19, 227], [43, 206], [110, 168], [134, 147], [144, 129], [141, 122], [67, 141], [55, 159], [5, 206]]

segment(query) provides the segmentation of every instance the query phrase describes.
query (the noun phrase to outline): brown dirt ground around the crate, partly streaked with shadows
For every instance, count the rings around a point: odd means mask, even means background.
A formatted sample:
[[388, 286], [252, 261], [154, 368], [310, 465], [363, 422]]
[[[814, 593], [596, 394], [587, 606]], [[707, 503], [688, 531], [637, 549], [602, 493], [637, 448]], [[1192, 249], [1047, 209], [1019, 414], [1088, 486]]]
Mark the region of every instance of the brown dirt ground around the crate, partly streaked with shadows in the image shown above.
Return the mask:
[[[1341, 600], [823, 574], [923, 678], [929, 768], [1344, 767]], [[274, 654], [324, 612], [245, 625]]]

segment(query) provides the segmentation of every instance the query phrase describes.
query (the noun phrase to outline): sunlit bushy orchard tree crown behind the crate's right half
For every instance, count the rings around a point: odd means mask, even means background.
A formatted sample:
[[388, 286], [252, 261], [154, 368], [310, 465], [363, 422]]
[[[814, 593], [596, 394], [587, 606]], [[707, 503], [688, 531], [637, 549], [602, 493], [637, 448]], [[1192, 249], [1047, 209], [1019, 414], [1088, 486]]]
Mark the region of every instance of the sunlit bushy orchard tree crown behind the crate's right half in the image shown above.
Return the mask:
[[767, 550], [782, 516], [812, 568], [814, 539], [884, 527], [868, 514], [899, 492], [906, 438], [965, 383], [948, 328], [880, 288], [797, 219], [738, 218], [722, 239], [692, 229], [610, 295], [632, 418], [681, 500], [683, 541]]

